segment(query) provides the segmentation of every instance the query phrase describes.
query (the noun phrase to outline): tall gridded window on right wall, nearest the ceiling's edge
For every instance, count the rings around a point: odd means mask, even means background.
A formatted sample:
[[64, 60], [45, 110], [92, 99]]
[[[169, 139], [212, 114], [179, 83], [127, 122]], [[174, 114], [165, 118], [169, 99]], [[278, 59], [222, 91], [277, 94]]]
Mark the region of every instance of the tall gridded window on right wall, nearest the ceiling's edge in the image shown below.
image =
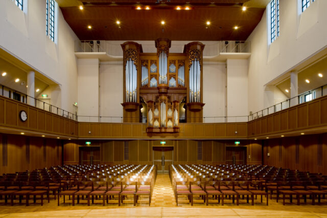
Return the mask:
[[269, 4], [270, 43], [279, 36], [279, 0], [272, 0]]

